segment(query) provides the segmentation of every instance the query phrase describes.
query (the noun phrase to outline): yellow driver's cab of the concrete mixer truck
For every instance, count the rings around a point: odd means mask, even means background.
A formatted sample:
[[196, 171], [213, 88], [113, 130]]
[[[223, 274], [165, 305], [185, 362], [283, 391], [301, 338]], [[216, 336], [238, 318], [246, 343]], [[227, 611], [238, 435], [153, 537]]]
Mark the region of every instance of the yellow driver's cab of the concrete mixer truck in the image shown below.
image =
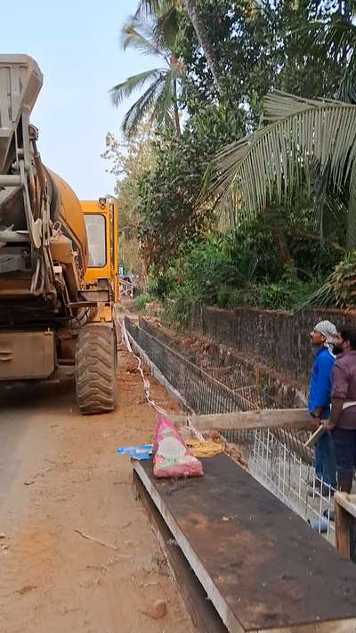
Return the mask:
[[82, 200], [81, 206], [85, 215], [89, 249], [85, 282], [89, 287], [95, 287], [97, 280], [109, 280], [114, 303], [117, 303], [117, 200]]

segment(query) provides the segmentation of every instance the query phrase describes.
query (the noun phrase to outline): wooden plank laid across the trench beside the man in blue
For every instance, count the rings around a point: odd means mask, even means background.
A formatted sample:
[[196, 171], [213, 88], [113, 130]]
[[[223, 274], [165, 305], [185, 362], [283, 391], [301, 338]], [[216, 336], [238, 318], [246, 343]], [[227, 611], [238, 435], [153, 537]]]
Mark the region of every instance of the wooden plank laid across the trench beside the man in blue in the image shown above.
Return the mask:
[[[187, 416], [173, 416], [178, 426], [187, 423]], [[256, 411], [234, 411], [193, 416], [192, 422], [199, 431], [209, 428], [218, 430], [243, 430], [254, 428], [308, 428], [311, 416], [306, 409], [265, 409]]]

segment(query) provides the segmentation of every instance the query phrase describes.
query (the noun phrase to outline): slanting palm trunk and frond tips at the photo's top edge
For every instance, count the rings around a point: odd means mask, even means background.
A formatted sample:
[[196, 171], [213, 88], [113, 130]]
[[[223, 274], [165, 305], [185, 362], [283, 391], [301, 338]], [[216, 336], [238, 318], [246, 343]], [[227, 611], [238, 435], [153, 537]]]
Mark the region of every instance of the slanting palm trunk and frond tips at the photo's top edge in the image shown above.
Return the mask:
[[[198, 38], [198, 43], [206, 57], [207, 64], [214, 79], [214, 84], [218, 89], [221, 86], [222, 71], [219, 66], [219, 61], [214, 52], [214, 47], [211, 44], [207, 35], [206, 27], [201, 19], [201, 15], [198, 12], [197, 3], [195, 0], [139, 0], [137, 13], [161, 13], [161, 16], [166, 16], [166, 24], [172, 19], [174, 13], [178, 7], [183, 7], [188, 13], [188, 17], [195, 30]], [[137, 15], [136, 13], [136, 15]], [[163, 24], [165, 20], [163, 20]], [[162, 24], [162, 20], [161, 20]]]

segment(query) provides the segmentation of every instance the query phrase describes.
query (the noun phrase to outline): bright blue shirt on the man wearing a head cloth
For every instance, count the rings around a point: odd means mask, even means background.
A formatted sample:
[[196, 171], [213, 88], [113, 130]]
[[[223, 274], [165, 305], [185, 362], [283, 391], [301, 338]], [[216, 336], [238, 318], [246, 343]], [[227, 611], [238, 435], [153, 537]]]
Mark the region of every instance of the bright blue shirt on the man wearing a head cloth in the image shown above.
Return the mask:
[[320, 347], [318, 349], [312, 366], [308, 410], [312, 413], [315, 407], [322, 407], [324, 410], [321, 413], [321, 418], [330, 416], [331, 372], [334, 362], [335, 356], [329, 351], [328, 347]]

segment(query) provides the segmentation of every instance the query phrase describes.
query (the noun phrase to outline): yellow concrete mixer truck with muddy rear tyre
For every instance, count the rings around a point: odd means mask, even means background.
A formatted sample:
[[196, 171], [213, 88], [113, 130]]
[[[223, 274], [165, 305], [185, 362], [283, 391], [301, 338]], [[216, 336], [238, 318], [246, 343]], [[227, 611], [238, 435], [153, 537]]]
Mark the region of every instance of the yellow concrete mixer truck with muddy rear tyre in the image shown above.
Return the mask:
[[117, 206], [80, 203], [42, 163], [29, 116], [43, 76], [0, 55], [0, 381], [72, 370], [85, 413], [117, 402]]

